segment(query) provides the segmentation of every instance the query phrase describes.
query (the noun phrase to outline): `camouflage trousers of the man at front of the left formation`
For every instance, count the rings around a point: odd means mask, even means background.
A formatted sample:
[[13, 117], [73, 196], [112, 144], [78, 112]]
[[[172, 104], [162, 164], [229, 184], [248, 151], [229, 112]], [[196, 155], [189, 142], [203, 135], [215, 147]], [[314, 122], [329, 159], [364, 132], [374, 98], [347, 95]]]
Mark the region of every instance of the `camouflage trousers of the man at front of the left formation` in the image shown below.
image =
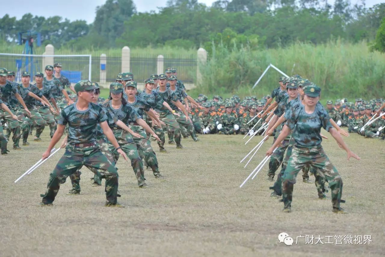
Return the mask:
[[99, 175], [100, 178], [105, 178], [105, 195], [107, 201], [116, 203], [118, 173], [114, 165], [102, 154], [97, 144], [83, 148], [68, 145], [65, 148], [64, 155], [60, 158], [54, 171], [50, 174], [47, 191], [42, 195], [43, 203], [54, 202], [60, 184], [65, 183], [67, 176], [72, 175], [83, 165]]

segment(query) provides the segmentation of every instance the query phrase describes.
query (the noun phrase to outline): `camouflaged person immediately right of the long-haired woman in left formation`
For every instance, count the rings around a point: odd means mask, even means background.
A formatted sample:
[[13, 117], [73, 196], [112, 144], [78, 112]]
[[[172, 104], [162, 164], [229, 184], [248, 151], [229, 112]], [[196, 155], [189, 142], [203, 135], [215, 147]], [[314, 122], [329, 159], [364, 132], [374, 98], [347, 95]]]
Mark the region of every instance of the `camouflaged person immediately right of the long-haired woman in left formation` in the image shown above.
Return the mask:
[[[154, 111], [152, 111], [152, 106], [148, 104], [142, 97], [136, 96], [136, 87], [137, 83], [135, 81], [130, 81], [126, 84], [126, 94], [127, 94], [127, 104], [129, 104], [139, 116], [143, 116], [143, 113], [146, 112], [147, 116], [151, 116], [158, 124], [161, 124], [161, 121], [157, 118]], [[134, 138], [136, 143], [136, 148], [141, 156], [142, 160], [145, 160], [147, 165], [151, 167], [152, 173], [154, 173], [155, 178], [164, 179], [164, 177], [159, 173], [158, 160], [156, 154], [151, 147], [147, 133], [151, 134], [154, 138], [161, 141], [158, 136], [152, 131], [146, 122], [130, 124], [129, 128], [132, 129], [135, 133], [140, 134], [143, 138]]]

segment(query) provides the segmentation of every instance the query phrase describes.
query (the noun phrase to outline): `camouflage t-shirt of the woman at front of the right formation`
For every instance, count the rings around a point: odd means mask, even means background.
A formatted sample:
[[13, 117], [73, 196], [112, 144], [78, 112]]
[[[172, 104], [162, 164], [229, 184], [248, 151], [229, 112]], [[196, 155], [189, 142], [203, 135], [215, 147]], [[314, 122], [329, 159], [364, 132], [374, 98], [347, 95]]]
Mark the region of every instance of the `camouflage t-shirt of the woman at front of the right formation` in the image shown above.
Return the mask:
[[301, 105], [293, 113], [286, 122], [292, 130], [292, 136], [297, 144], [301, 146], [317, 146], [321, 144], [320, 135], [321, 127], [326, 131], [333, 128], [329, 121], [329, 117], [320, 113], [317, 108], [313, 113], [305, 112], [305, 106]]

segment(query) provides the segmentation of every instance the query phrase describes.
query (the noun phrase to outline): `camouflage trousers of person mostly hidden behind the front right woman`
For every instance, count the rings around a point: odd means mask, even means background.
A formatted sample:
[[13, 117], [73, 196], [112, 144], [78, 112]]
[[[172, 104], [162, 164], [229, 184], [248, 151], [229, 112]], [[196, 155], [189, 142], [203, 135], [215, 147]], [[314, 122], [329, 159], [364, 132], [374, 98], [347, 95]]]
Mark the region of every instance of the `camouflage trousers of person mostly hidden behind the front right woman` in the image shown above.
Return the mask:
[[[286, 149], [286, 156], [285, 159], [282, 162], [282, 168], [281, 172], [277, 176], [277, 180], [274, 183], [274, 186], [271, 186], [270, 189], [273, 189], [277, 195], [282, 195], [282, 176], [285, 173], [286, 167], [288, 165], [288, 161], [290, 159], [291, 153], [293, 151], [293, 145], [295, 144], [295, 141], [293, 138], [290, 139], [289, 141], [289, 146]], [[315, 176], [315, 186], [318, 191], [318, 196], [323, 195], [323, 193], [327, 192], [325, 189], [325, 178], [321, 177], [314, 168], [310, 167], [310, 165], [306, 164], [302, 168], [302, 178], [309, 178], [309, 171], [310, 173], [313, 173]]]

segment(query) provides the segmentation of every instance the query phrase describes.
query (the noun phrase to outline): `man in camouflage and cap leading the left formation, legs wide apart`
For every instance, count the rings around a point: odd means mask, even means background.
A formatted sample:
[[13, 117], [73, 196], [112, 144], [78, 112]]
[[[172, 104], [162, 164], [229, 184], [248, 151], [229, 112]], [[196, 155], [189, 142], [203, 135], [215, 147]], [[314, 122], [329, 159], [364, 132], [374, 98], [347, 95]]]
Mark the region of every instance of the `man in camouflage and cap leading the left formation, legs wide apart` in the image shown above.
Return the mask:
[[105, 206], [124, 207], [124, 205], [117, 203], [117, 170], [107, 160], [107, 157], [102, 154], [95, 138], [97, 124], [100, 124], [104, 134], [115, 146], [115, 151], [126, 160], [127, 156], [119, 147], [111, 129], [107, 125], [108, 118], [106, 113], [100, 106], [91, 103], [94, 97], [94, 89], [97, 89], [97, 87], [92, 86], [90, 81], [79, 81], [75, 84], [78, 100], [75, 104], [65, 108], [60, 115], [57, 130], [51, 139], [47, 151], [43, 154], [43, 159], [50, 155], [51, 149], [63, 135], [66, 124], [69, 124], [68, 145], [64, 155], [50, 174], [47, 191], [42, 195], [43, 199], [39, 206], [52, 205], [59, 191], [60, 184], [65, 182], [67, 176], [85, 165], [101, 178], [105, 178], [107, 198]]

